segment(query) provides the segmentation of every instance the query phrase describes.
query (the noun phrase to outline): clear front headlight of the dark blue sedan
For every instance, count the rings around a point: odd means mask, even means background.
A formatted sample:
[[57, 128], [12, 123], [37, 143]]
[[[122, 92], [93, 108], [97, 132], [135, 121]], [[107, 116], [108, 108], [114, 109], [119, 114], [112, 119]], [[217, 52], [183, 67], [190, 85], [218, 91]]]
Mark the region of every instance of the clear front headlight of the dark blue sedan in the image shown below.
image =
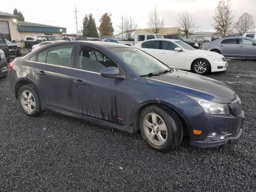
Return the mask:
[[212, 101], [204, 100], [197, 97], [189, 96], [194, 99], [196, 102], [200, 104], [200, 106], [204, 109], [206, 114], [215, 114], [215, 115], [228, 115], [229, 109], [228, 104], [225, 103], [215, 103]]

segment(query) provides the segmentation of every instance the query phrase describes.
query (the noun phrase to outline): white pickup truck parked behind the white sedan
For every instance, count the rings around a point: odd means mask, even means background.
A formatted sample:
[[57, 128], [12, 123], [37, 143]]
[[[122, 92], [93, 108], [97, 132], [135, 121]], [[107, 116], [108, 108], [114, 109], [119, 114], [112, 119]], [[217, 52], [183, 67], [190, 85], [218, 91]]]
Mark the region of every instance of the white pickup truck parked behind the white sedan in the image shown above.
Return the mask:
[[135, 34], [134, 40], [133, 39], [122, 40], [122, 41], [118, 41], [118, 43], [133, 46], [141, 41], [145, 41], [149, 39], [160, 39], [160, 38], [164, 38], [164, 36], [161, 34]]

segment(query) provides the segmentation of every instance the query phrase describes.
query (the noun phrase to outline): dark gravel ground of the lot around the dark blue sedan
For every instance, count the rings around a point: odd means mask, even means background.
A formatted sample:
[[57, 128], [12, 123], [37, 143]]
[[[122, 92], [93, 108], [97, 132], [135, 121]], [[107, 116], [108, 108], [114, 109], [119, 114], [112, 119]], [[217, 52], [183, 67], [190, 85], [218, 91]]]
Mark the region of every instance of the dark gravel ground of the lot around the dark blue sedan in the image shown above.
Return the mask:
[[0, 80], [0, 191], [255, 192], [256, 61], [228, 62], [226, 72], [208, 76], [240, 96], [246, 118], [241, 138], [206, 149], [190, 148], [184, 138], [167, 154], [149, 148], [140, 133], [52, 112], [28, 117], [8, 77]]

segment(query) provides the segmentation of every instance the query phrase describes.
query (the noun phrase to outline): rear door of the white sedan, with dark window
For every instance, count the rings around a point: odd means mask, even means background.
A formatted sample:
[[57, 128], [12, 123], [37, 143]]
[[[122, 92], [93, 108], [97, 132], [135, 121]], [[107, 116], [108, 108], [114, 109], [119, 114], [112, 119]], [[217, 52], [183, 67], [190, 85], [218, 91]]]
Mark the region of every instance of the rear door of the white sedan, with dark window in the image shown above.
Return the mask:
[[153, 57], [160, 59], [160, 41], [158, 40], [152, 40], [152, 41], [146, 41], [141, 44], [141, 49], [144, 52], [147, 52], [148, 54], [152, 55]]

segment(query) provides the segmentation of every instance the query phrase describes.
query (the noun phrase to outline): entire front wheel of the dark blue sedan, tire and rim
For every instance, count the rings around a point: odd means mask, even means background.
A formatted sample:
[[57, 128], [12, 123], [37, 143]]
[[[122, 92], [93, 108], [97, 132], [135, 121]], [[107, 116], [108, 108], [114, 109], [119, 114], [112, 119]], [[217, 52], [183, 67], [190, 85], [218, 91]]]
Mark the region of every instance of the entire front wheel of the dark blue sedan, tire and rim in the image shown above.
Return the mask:
[[[154, 123], [152, 117], [155, 117]], [[144, 108], [140, 114], [139, 125], [143, 139], [157, 151], [172, 151], [182, 141], [183, 129], [180, 118], [167, 108], [154, 105]]]

